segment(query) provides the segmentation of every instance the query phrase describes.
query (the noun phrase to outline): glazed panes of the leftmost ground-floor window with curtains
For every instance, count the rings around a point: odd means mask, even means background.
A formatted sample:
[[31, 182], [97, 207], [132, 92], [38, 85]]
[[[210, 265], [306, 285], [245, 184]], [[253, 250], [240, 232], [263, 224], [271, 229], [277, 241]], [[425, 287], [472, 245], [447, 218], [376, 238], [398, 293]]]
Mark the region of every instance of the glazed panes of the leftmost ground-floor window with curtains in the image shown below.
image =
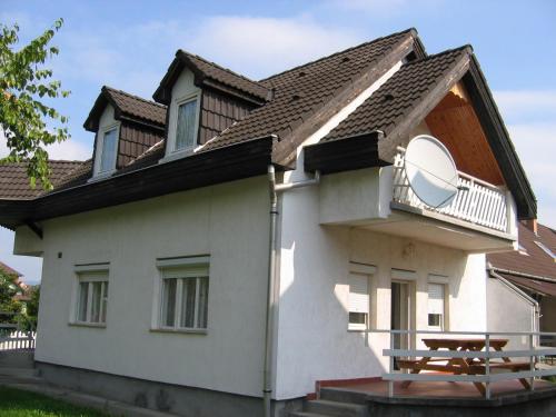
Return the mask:
[[78, 272], [76, 322], [105, 325], [108, 308], [108, 271]]

